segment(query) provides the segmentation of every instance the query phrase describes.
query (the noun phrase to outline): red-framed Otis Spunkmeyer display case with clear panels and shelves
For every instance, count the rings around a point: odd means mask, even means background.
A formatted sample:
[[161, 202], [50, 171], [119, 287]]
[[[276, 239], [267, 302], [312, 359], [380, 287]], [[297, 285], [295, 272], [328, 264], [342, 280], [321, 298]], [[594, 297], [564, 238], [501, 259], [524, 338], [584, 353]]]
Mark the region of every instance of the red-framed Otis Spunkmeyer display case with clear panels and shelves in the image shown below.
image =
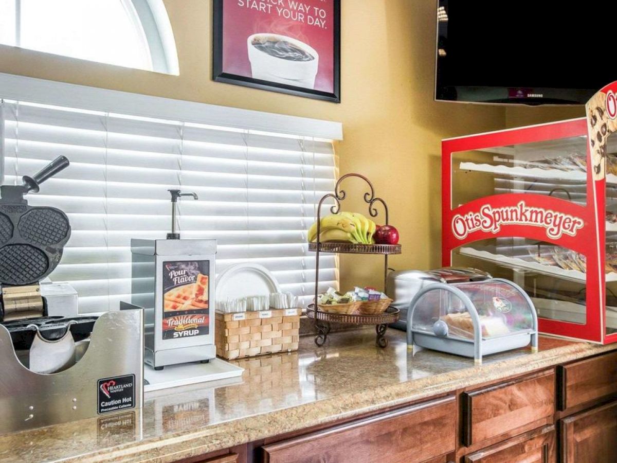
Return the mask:
[[617, 341], [616, 94], [581, 119], [442, 141], [442, 264], [521, 286], [541, 333]]

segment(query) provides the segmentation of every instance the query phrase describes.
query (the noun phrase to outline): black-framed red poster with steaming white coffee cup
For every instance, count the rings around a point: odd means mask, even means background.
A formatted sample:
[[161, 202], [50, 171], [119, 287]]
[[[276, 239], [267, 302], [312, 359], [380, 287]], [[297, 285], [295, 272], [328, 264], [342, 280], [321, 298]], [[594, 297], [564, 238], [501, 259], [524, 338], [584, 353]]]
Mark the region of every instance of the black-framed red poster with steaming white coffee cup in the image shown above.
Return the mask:
[[341, 0], [214, 0], [213, 79], [341, 102]]

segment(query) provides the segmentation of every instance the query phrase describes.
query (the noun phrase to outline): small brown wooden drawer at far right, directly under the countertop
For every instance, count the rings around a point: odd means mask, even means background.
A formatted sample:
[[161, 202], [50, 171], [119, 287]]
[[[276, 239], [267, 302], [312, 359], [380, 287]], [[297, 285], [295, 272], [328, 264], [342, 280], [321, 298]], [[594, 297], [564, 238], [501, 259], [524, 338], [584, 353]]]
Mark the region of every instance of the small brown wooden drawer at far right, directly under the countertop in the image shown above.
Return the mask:
[[557, 367], [559, 409], [617, 394], [617, 352]]

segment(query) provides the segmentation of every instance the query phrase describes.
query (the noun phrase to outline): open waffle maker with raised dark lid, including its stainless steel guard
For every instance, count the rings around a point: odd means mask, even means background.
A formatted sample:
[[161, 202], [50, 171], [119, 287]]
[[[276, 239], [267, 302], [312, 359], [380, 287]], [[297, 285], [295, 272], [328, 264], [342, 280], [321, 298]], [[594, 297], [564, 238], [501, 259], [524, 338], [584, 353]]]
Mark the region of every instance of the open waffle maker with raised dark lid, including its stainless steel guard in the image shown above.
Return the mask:
[[120, 302], [101, 315], [60, 316], [77, 315], [75, 291], [41, 285], [71, 227], [64, 212], [24, 196], [68, 164], [60, 156], [22, 185], [0, 187], [0, 435], [120, 412], [135, 421], [143, 404], [143, 309]]

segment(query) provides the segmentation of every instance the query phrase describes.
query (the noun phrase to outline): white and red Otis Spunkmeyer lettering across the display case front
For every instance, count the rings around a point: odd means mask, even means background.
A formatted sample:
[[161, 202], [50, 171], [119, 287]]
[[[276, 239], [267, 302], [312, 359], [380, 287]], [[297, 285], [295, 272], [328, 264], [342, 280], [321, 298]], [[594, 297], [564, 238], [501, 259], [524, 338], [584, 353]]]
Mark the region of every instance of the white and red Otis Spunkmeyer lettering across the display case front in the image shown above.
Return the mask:
[[457, 214], [452, 218], [452, 233], [458, 240], [463, 240], [474, 231], [498, 233], [503, 225], [529, 225], [546, 229], [546, 235], [552, 240], [561, 235], [576, 236], [585, 222], [574, 215], [551, 211], [543, 207], [527, 206], [524, 201], [516, 206], [491, 207], [484, 204], [479, 212]]

